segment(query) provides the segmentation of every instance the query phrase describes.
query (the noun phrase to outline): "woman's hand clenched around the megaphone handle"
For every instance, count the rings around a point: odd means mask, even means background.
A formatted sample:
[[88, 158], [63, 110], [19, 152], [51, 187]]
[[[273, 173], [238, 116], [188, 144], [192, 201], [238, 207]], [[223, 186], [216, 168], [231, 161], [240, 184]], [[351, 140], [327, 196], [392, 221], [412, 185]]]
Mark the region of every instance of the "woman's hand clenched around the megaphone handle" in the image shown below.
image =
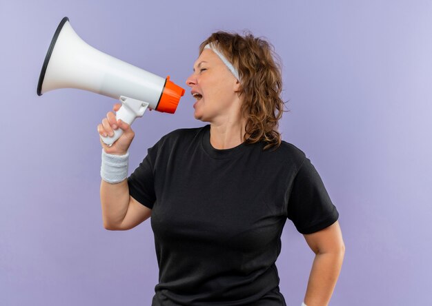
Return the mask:
[[[116, 103], [112, 110], [117, 112], [117, 110], [120, 108], [121, 103]], [[128, 123], [125, 123], [120, 119], [117, 121], [115, 119], [115, 114], [113, 112], [108, 112], [108, 114], [106, 114], [106, 118], [102, 120], [102, 123], [97, 125], [97, 132], [99, 132], [100, 136], [112, 136], [114, 134], [113, 130], [117, 130], [117, 128], [121, 128], [121, 130], [123, 130], [123, 134], [121, 134], [120, 138], [117, 139], [115, 143], [112, 143], [110, 147], [108, 147], [108, 145], [106, 145], [100, 137], [99, 140], [101, 141], [102, 148], [106, 153], [124, 155], [128, 152], [130, 143], [132, 143], [132, 140], [135, 136], [135, 132], [132, 131]]]

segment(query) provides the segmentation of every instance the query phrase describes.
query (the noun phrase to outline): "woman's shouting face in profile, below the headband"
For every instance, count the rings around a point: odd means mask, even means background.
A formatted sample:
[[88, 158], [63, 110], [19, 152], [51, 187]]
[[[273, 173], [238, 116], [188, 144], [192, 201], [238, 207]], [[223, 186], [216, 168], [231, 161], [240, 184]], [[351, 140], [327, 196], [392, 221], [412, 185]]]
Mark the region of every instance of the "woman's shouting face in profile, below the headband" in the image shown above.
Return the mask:
[[195, 119], [224, 122], [233, 112], [239, 112], [239, 82], [215, 52], [204, 49], [193, 69], [186, 85], [195, 98]]

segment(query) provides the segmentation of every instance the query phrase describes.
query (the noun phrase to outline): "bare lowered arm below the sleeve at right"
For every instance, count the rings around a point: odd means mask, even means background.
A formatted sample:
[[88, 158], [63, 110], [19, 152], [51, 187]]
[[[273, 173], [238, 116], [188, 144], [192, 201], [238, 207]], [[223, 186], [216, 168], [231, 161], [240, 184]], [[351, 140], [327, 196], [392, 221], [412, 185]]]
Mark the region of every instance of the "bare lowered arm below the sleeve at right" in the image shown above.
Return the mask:
[[326, 306], [344, 261], [345, 245], [338, 221], [313, 234], [304, 234], [306, 243], [315, 253], [304, 296], [307, 306]]

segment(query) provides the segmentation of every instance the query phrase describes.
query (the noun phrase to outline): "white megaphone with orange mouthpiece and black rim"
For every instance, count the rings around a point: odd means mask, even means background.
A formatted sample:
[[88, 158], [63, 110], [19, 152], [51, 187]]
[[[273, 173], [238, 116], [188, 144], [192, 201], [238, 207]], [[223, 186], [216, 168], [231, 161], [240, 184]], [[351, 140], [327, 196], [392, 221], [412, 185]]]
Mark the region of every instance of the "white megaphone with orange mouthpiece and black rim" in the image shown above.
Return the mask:
[[[184, 89], [156, 74], [137, 68], [101, 52], [83, 41], [64, 17], [50, 43], [43, 61], [37, 94], [59, 88], [77, 88], [119, 99], [121, 108], [116, 119], [129, 125], [147, 108], [173, 114]], [[101, 137], [112, 145], [123, 131]]]

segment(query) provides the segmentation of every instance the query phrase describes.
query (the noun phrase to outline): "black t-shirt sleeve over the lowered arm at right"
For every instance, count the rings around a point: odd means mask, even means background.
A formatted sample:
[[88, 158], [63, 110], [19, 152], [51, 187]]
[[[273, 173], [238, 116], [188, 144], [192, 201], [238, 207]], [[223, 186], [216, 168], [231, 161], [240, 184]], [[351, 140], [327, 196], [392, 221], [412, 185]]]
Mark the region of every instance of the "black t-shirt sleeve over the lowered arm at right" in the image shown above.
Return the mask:
[[320, 174], [307, 157], [293, 181], [288, 198], [288, 218], [301, 234], [318, 232], [339, 218]]

